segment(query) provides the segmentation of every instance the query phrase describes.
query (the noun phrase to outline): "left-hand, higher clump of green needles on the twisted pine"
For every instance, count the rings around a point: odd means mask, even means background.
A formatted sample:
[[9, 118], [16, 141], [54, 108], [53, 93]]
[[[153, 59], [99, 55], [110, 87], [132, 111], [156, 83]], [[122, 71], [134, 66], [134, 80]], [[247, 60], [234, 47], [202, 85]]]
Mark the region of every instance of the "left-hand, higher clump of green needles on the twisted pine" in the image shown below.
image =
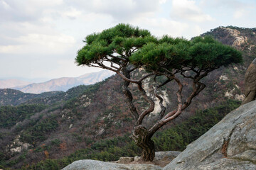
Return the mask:
[[151, 41], [157, 40], [148, 30], [119, 24], [102, 33], [87, 35], [84, 40], [86, 45], [78, 51], [76, 62], [78, 65], [93, 66], [102, 61], [117, 63], [129, 60], [132, 53]]

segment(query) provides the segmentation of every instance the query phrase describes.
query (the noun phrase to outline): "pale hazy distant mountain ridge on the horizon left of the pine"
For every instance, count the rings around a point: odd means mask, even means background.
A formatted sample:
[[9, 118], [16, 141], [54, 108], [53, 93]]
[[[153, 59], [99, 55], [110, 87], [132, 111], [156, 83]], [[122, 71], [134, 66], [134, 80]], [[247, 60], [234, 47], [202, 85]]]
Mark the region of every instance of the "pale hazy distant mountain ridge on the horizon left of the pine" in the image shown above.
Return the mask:
[[[42, 83], [25, 84], [25, 82], [23, 82], [24, 86], [21, 86], [21, 83], [16, 86], [10, 83], [11, 86], [5, 86], [4, 88], [16, 89], [30, 94], [41, 94], [48, 91], [67, 91], [74, 86], [95, 84], [99, 81], [107, 79], [107, 77], [110, 77], [113, 74], [114, 72], [102, 70], [100, 72], [83, 74], [80, 77], [62, 77], [59, 79], [51, 79]], [[4, 88], [0, 86], [0, 89]]]

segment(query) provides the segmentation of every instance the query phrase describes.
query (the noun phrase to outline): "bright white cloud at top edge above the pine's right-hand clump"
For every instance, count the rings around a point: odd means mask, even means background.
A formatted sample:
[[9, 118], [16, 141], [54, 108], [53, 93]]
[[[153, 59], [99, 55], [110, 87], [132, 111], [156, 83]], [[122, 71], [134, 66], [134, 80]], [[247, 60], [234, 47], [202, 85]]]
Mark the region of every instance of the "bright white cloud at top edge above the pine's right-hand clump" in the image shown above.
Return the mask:
[[191, 0], [173, 0], [171, 18], [194, 22], [213, 21], [210, 15], [203, 13], [196, 5], [196, 1]]

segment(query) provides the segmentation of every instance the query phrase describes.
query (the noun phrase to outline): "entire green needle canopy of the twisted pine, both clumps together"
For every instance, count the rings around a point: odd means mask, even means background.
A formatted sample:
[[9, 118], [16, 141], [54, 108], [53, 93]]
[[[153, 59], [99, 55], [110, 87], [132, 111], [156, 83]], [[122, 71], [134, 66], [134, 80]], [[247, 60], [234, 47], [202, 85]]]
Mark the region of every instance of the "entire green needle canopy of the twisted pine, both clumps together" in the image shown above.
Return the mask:
[[113, 64], [125, 61], [151, 69], [164, 67], [171, 70], [181, 67], [213, 69], [242, 62], [238, 50], [210, 36], [196, 37], [190, 41], [168, 35], [155, 38], [149, 30], [125, 24], [87, 35], [84, 42], [86, 45], [76, 57], [78, 65], [103, 67], [104, 61]]

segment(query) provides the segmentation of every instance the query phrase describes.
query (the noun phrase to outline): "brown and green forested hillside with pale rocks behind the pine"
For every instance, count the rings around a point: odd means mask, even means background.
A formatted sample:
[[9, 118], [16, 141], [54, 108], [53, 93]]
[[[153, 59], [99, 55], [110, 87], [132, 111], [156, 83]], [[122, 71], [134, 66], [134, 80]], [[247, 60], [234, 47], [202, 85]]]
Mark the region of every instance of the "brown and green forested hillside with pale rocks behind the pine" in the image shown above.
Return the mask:
[[[245, 62], [210, 73], [204, 79], [206, 89], [186, 112], [155, 135], [157, 150], [183, 150], [239, 106], [246, 68], [256, 57], [255, 33], [255, 28], [220, 27], [203, 34], [241, 50]], [[0, 108], [0, 168], [60, 169], [76, 159], [112, 161], [138, 154], [138, 148], [127, 137], [133, 120], [124, 102], [121, 83], [115, 75], [94, 85], [77, 86], [50, 96], [12, 99], [9, 93], [4, 94], [9, 98], [4, 105], [14, 106]], [[146, 107], [139, 92], [133, 93], [137, 94], [135, 104]], [[172, 98], [175, 94], [172, 84], [161, 89], [167, 109], [176, 102]], [[23, 102], [18, 98], [23, 98]]]

